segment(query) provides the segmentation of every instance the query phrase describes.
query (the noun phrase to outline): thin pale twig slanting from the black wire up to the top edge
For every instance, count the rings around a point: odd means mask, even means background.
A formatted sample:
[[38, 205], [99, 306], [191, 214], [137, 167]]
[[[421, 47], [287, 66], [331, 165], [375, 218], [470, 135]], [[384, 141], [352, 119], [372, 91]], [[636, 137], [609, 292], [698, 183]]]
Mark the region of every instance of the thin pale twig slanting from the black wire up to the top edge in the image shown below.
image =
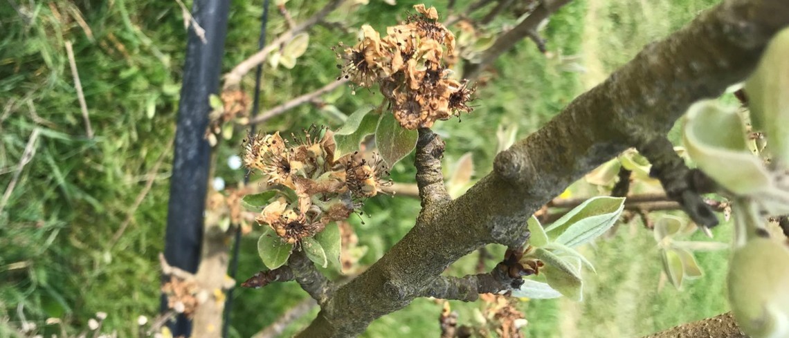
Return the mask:
[[237, 87], [238, 84], [241, 83], [241, 77], [245, 76], [246, 73], [254, 69], [256, 65], [259, 65], [263, 63], [263, 61], [266, 61], [266, 58], [268, 58], [268, 54], [270, 54], [271, 51], [279, 48], [279, 46], [282, 45], [282, 43], [286, 43], [290, 39], [293, 39], [293, 37], [298, 33], [304, 32], [309, 28], [312, 28], [313, 25], [323, 20], [323, 17], [326, 17], [329, 13], [331, 13], [331, 11], [337, 9], [337, 7], [340, 6], [341, 3], [342, 0], [329, 1], [326, 4], [326, 6], [323, 6], [323, 9], [320, 9], [320, 11], [318, 11], [318, 13], [315, 13], [314, 15], [312, 15], [312, 17], [308, 18], [301, 24], [298, 24], [296, 27], [282, 33], [277, 37], [277, 39], [271, 41], [271, 43], [268, 44], [268, 46], [265, 46], [263, 49], [261, 49], [251, 57], [247, 58], [246, 60], [241, 61], [241, 63], [236, 65], [233, 70], [225, 74], [224, 87], [225, 88]]

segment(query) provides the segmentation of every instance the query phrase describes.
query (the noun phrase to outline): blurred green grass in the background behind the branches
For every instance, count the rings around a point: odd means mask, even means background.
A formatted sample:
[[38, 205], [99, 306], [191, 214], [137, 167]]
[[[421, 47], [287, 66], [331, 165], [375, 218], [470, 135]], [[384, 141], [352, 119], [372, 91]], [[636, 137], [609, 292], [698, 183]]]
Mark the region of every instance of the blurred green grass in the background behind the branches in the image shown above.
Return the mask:
[[[333, 16], [350, 27], [371, 23], [378, 29], [405, 16], [413, 1], [397, 6], [372, 0], [352, 15]], [[462, 2], [459, 2], [462, 4]], [[525, 137], [547, 122], [572, 98], [599, 83], [630, 60], [645, 43], [682, 27], [712, 0], [576, 0], [552, 17], [545, 29], [546, 58], [529, 41], [495, 63], [488, 85], [477, 91], [472, 115], [439, 122], [447, 140], [446, 168], [471, 152], [476, 177], [491, 169], [495, 129], [517, 125]], [[109, 314], [107, 330], [136, 335], [136, 317], [159, 307], [156, 255], [163, 250], [168, 177], [174, 135], [185, 30], [176, 2], [128, 1], [18, 2], [0, 6], [0, 190], [5, 192], [34, 129], [36, 153], [0, 213], [0, 336], [14, 336], [20, 314], [43, 333], [58, 332], [46, 318], [62, 318], [69, 330], [84, 329], [95, 312]], [[189, 3], [187, 3], [189, 6]], [[439, 13], [443, 3], [436, 2]], [[288, 2], [303, 18], [320, 4]], [[461, 7], [462, 8], [462, 7]], [[258, 2], [234, 0], [223, 71], [254, 52], [262, 10]], [[512, 24], [496, 20], [493, 28]], [[286, 29], [272, 11], [269, 37]], [[85, 136], [64, 43], [74, 44], [96, 137]], [[316, 27], [307, 53], [292, 69], [264, 72], [264, 107], [321, 87], [337, 76], [330, 47], [353, 42], [351, 34]], [[252, 78], [245, 78], [250, 90]], [[347, 88], [331, 102], [350, 113], [372, 92]], [[269, 121], [265, 131], [295, 131], [308, 124], [338, 126], [330, 114], [302, 106]], [[228, 185], [243, 178], [223, 163], [237, 153], [239, 136], [219, 151], [217, 175]], [[162, 165], [156, 162], [161, 158]], [[413, 180], [410, 160], [392, 170], [393, 179]], [[154, 170], [156, 169], [156, 170]], [[151, 190], [130, 209], [145, 184]], [[419, 203], [408, 198], [372, 199], [365, 224], [352, 219], [372, 263], [413, 226]], [[128, 227], [121, 225], [129, 218]], [[728, 226], [716, 231], [727, 239]], [[118, 234], [118, 240], [113, 240]], [[697, 236], [697, 235], [695, 235]], [[254, 234], [242, 240], [239, 277], [261, 268]], [[666, 329], [724, 312], [726, 253], [699, 254], [706, 276], [679, 292], [659, 288], [660, 258], [652, 234], [634, 221], [612, 238], [585, 248], [597, 275], [585, 278], [585, 301], [531, 300], [521, 303], [533, 337], [628, 337]], [[450, 273], [469, 273], [475, 256], [463, 258]], [[493, 262], [491, 262], [493, 263]], [[278, 318], [304, 293], [293, 283], [261, 290], [238, 290], [232, 314], [233, 336], [251, 336]], [[477, 303], [452, 302], [460, 321], [473, 322]], [[380, 318], [365, 336], [438, 336], [440, 305], [418, 299], [406, 309]], [[291, 325], [286, 336], [316, 313]]]

